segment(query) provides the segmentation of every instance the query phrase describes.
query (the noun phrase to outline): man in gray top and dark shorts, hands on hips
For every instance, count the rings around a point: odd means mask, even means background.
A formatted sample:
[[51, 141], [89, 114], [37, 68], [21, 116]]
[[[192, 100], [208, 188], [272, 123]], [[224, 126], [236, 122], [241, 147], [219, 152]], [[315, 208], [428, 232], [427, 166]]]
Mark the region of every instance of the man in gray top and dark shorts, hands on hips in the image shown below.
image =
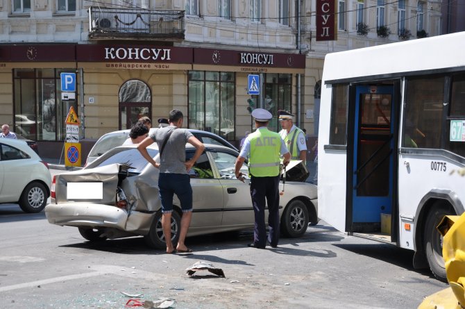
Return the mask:
[[[183, 112], [180, 110], [171, 110], [169, 112], [169, 126], [155, 129], [137, 147], [142, 156], [151, 165], [160, 169], [158, 188], [162, 202], [162, 228], [164, 239], [167, 242], [167, 253], [192, 252], [184, 243], [187, 229], [192, 219], [192, 187], [188, 172], [203, 153], [203, 149], [205, 149], [202, 142], [192, 135], [192, 133], [181, 128], [183, 126], [183, 119]], [[158, 149], [162, 151], [160, 153], [160, 164], [155, 162], [147, 151], [147, 147], [153, 144], [153, 142], [157, 142]], [[196, 152], [192, 159], [186, 162], [185, 145], [187, 142], [196, 148]], [[176, 249], [174, 249], [171, 242], [171, 212], [173, 212], [174, 194], [178, 196], [181, 209], [183, 210]]]

